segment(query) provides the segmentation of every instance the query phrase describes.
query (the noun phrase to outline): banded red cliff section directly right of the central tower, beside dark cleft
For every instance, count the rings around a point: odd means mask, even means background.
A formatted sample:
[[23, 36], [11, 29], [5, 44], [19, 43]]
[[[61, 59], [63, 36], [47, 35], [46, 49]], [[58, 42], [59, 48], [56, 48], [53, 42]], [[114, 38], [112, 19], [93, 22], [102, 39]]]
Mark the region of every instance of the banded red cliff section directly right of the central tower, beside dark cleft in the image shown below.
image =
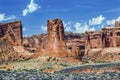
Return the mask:
[[80, 33], [65, 33], [68, 56], [82, 59], [85, 52], [85, 35]]

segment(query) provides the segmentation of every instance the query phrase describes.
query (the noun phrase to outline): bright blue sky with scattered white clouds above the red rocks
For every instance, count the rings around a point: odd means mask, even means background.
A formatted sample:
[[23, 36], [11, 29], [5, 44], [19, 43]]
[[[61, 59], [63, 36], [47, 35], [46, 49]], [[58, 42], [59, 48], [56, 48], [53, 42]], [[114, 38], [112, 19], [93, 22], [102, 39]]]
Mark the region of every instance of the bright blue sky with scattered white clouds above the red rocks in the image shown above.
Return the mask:
[[84, 33], [120, 21], [120, 0], [0, 0], [0, 22], [21, 20], [24, 36], [46, 33], [48, 19]]

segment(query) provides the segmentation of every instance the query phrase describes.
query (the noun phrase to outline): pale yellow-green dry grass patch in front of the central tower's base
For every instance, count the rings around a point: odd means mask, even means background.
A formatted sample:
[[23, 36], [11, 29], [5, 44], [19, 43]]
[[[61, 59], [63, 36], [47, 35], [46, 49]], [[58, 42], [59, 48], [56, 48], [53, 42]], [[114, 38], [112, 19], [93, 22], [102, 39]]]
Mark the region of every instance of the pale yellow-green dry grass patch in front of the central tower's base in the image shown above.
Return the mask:
[[[47, 59], [49, 59], [49, 57], [46, 57]], [[31, 59], [31, 60], [27, 60], [27, 61], [16, 61], [16, 62], [9, 62], [8, 64], [13, 66], [12, 70], [18, 70], [18, 71], [23, 71], [23, 70], [31, 70], [31, 69], [36, 69], [38, 71], [45, 71], [47, 70], [49, 72], [49, 70], [52, 71], [56, 71], [65, 67], [72, 67], [73, 65], [77, 66], [78, 63], [71, 63], [71, 62], [63, 62], [62, 60], [64, 59], [54, 59], [51, 58], [51, 60], [47, 61], [47, 59], [45, 59], [43, 61], [42, 57], [39, 57], [37, 59]], [[53, 60], [52, 60], [53, 59]]]

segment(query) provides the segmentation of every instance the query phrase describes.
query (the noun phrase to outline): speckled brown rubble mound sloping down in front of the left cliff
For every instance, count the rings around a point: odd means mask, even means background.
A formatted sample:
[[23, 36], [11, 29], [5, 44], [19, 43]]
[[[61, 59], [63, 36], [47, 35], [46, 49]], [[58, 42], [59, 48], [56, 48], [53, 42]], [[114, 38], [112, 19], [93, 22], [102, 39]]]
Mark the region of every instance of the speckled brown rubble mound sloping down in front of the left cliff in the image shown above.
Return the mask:
[[19, 53], [18, 48], [16, 51], [14, 47], [15, 46], [13, 46], [12, 42], [8, 41], [7, 39], [0, 41], [0, 64], [9, 61], [21, 61], [29, 59], [29, 56]]

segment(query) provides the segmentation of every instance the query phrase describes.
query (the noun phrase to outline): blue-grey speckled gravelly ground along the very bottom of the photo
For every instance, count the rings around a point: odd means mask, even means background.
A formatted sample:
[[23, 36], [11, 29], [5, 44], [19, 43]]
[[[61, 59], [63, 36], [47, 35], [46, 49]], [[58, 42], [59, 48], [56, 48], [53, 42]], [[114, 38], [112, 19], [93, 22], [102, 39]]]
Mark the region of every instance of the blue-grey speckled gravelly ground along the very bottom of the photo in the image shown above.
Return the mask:
[[0, 80], [120, 80], [119, 72], [104, 72], [102, 74], [61, 74], [29, 71], [0, 71]]

